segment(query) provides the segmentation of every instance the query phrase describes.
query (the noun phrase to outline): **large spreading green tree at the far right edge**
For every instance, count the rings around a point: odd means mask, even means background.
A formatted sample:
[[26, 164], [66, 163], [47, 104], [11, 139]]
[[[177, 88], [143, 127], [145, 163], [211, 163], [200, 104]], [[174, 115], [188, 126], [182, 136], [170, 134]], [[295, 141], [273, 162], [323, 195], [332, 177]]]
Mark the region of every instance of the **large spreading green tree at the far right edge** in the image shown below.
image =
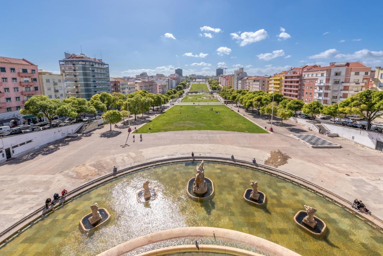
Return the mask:
[[342, 113], [360, 114], [367, 119], [367, 129], [371, 122], [382, 114], [383, 111], [383, 91], [365, 90], [358, 92], [354, 96], [348, 97], [339, 104]]

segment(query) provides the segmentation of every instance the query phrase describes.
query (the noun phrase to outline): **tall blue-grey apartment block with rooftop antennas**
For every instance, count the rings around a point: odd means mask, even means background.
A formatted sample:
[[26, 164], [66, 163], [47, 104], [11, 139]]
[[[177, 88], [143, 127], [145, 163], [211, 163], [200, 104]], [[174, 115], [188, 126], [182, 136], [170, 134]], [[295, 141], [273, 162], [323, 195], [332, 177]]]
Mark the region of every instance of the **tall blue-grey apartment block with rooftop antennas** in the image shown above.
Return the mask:
[[64, 74], [67, 97], [90, 99], [97, 93], [111, 92], [109, 65], [102, 59], [90, 58], [82, 53], [64, 55], [59, 66]]

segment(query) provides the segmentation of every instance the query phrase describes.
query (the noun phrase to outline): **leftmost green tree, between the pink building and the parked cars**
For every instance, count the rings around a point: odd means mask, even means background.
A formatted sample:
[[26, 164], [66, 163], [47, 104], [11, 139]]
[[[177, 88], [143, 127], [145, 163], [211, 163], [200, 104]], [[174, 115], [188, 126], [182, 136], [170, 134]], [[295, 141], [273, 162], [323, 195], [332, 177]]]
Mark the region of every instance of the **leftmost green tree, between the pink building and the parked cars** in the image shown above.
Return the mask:
[[57, 109], [62, 102], [59, 99], [49, 99], [46, 95], [36, 95], [25, 102], [24, 108], [20, 110], [23, 115], [34, 115], [37, 117], [46, 117], [49, 120], [49, 126], [52, 127], [52, 119], [57, 115]]

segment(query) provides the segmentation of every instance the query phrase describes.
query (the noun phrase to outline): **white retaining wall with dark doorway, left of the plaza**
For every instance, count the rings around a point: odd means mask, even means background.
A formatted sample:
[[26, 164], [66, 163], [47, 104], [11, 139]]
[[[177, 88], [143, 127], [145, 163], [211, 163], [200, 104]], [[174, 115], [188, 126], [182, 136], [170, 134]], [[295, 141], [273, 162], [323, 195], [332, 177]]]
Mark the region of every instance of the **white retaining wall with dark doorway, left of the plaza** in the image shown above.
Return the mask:
[[41, 130], [37, 132], [28, 132], [0, 139], [0, 163], [7, 160], [5, 149], [10, 148], [12, 157], [20, 157], [28, 152], [31, 152], [40, 147], [54, 142], [55, 140], [63, 139], [68, 134], [75, 133], [80, 127], [80, 124], [72, 124], [70, 126], [62, 126]]

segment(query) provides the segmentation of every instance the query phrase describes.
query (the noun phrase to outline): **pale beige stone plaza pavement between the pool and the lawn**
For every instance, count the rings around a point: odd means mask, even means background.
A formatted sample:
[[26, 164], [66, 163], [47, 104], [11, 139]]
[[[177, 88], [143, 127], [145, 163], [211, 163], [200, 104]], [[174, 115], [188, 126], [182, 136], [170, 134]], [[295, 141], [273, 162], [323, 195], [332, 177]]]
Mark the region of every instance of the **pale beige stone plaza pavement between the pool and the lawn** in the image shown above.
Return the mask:
[[[229, 106], [233, 107], [233, 106]], [[255, 113], [255, 112], [254, 112]], [[268, 119], [240, 108], [240, 114], [262, 127]], [[154, 117], [152, 115], [151, 117]], [[134, 124], [133, 124], [134, 126]], [[138, 127], [138, 125], [137, 125]], [[329, 138], [300, 124], [277, 120], [272, 134], [225, 131], [177, 131], [144, 134], [143, 141], [124, 147], [127, 127], [109, 133], [100, 127], [78, 138], [67, 138], [0, 166], [0, 225], [8, 227], [63, 188], [71, 190], [93, 178], [143, 162], [190, 155], [224, 156], [277, 167], [338, 194], [357, 197], [383, 219], [382, 154], [339, 138]], [[341, 149], [313, 149], [291, 134], [315, 134], [342, 145]]]

